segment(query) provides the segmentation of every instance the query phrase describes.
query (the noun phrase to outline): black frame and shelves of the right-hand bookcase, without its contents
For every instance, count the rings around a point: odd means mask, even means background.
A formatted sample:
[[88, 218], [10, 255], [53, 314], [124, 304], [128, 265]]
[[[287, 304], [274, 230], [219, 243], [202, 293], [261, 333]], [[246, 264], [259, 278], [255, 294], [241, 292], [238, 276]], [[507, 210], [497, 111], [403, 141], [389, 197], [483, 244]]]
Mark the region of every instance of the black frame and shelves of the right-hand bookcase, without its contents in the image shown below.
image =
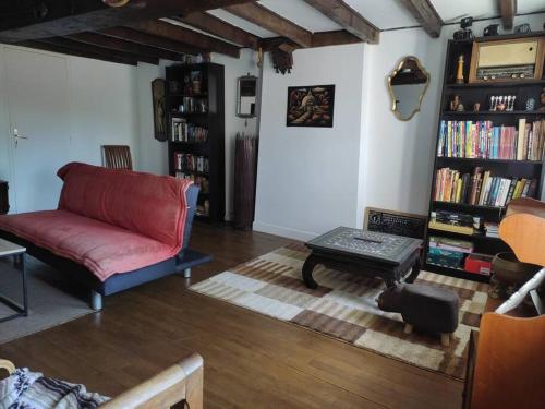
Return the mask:
[[[543, 33], [532, 33], [528, 36], [543, 36]], [[486, 37], [477, 38], [476, 40], [493, 40], [502, 38], [521, 38], [521, 36], [502, 36], [502, 37]], [[441, 121], [492, 121], [494, 125], [517, 127], [519, 119], [525, 118], [526, 121], [544, 119], [545, 112], [538, 110], [525, 110], [525, 100], [530, 97], [534, 98], [536, 107], [540, 106], [540, 93], [545, 87], [545, 77], [540, 80], [513, 80], [506, 82], [482, 82], [468, 83], [470, 60], [472, 55], [473, 40], [456, 41], [449, 40], [447, 47], [447, 56], [445, 63], [445, 73], [443, 81], [443, 93], [440, 99], [440, 113], [437, 125], [437, 144], [435, 149], [434, 172], [432, 182], [432, 193], [429, 197], [429, 214], [436, 210], [459, 212], [472, 216], [479, 216], [488, 222], [499, 224], [505, 216], [506, 206], [496, 207], [489, 205], [471, 205], [467, 203], [441, 202], [435, 200], [435, 188], [437, 170], [441, 168], [451, 168], [460, 171], [460, 173], [472, 173], [475, 167], [482, 167], [483, 170], [489, 170], [494, 176], [505, 178], [526, 178], [537, 179], [537, 189], [534, 197], [540, 199], [542, 194], [543, 178], [545, 176], [545, 166], [543, 157], [541, 160], [514, 160], [514, 159], [486, 159], [486, 158], [465, 158], [465, 157], [448, 157], [438, 156], [439, 139], [441, 131]], [[464, 83], [456, 83], [456, 72], [459, 56], [464, 57]], [[464, 105], [463, 111], [450, 110], [450, 101], [453, 96], [458, 95]], [[516, 95], [517, 100], [514, 107], [510, 111], [489, 111], [488, 100], [492, 95]], [[481, 104], [481, 109], [477, 112], [472, 110], [475, 103]], [[537, 108], [536, 108], [537, 109]], [[463, 268], [452, 268], [445, 265], [433, 264], [428, 261], [429, 238], [432, 236], [445, 237], [458, 240], [471, 241], [475, 253], [494, 255], [498, 252], [509, 251], [509, 246], [499, 238], [488, 237], [481, 232], [475, 232], [472, 236], [459, 232], [450, 232], [444, 230], [426, 228], [425, 234], [425, 264], [424, 269], [433, 273], [439, 273], [448, 276], [465, 278], [476, 281], [488, 281], [488, 275], [469, 273]]]

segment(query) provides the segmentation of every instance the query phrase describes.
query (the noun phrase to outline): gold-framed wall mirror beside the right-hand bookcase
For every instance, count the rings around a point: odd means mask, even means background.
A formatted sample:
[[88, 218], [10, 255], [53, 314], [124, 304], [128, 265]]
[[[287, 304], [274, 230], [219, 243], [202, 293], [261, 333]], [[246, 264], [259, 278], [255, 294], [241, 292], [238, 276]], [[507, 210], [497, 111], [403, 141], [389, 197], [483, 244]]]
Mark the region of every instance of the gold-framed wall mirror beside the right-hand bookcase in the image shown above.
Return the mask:
[[401, 121], [409, 121], [422, 104], [429, 84], [429, 74], [416, 57], [405, 57], [388, 76], [391, 110]]

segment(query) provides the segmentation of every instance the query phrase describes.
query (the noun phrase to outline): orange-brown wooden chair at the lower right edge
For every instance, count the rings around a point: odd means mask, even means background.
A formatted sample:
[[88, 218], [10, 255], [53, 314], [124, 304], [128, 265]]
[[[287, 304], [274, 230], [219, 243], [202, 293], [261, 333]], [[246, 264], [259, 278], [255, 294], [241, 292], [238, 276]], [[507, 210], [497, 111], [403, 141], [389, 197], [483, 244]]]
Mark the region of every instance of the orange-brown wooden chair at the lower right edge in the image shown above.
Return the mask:
[[[545, 266], [544, 208], [538, 201], [518, 201], [499, 226], [499, 236], [523, 263]], [[545, 315], [505, 315], [529, 293], [540, 313], [537, 289], [544, 281], [542, 268], [496, 312], [484, 314], [479, 335], [471, 334], [464, 408], [544, 407]]]

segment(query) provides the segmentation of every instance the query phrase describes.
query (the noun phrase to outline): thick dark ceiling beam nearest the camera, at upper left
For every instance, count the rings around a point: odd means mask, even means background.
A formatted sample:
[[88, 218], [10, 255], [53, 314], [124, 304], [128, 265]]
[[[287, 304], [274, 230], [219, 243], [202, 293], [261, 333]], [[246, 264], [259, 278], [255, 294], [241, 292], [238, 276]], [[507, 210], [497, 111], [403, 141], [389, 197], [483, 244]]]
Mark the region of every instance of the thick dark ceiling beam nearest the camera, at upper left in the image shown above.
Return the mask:
[[0, 5], [0, 41], [17, 43], [95, 32], [135, 21], [187, 15], [249, 1], [252, 0], [131, 0], [119, 8], [107, 7], [101, 0], [3, 1]]

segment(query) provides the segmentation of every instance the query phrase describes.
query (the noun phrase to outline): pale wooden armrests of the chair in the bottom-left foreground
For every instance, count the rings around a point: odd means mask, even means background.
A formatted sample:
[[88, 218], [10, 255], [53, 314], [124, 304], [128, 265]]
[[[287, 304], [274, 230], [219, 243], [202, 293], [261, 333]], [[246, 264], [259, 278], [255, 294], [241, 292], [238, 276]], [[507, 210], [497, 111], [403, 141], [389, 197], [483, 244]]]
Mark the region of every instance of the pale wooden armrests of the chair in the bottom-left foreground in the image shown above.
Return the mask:
[[[0, 360], [0, 369], [12, 373], [15, 366]], [[167, 409], [174, 405], [203, 409], [203, 358], [198, 353], [100, 405], [100, 409]]]

